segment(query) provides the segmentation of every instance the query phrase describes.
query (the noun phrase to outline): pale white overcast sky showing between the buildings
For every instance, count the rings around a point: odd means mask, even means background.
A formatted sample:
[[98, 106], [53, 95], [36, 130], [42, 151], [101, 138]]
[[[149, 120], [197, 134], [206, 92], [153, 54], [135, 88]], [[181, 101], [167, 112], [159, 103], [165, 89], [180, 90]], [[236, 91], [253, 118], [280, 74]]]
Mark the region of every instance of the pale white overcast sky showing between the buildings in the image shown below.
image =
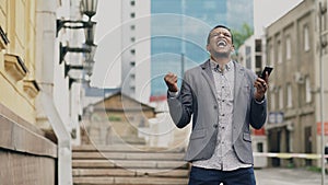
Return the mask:
[[[142, 0], [140, 0], [142, 2]], [[296, 4], [302, 2], [302, 0], [254, 0], [254, 26], [255, 33], [261, 33], [266, 26], [271, 24], [273, 21], [281, 18], [284, 13], [290, 11]], [[97, 22], [96, 33], [95, 33], [95, 44], [102, 43], [102, 48], [97, 48], [97, 50], [104, 49], [120, 49], [120, 47], [115, 47], [115, 39], [118, 39], [116, 34], [112, 34], [113, 41], [108, 42], [108, 45], [104, 45], [104, 38], [108, 33], [116, 33], [118, 31], [118, 25], [120, 23], [119, 20], [119, 10], [113, 9], [113, 7], [119, 7], [120, 0], [98, 0], [97, 13], [93, 18], [93, 21]], [[110, 10], [108, 11], [108, 8]], [[119, 35], [119, 33], [117, 33]], [[120, 66], [110, 66], [106, 60], [106, 57], [97, 55], [99, 51], [95, 54], [95, 66], [93, 77], [91, 78], [91, 85], [103, 88], [104, 81], [109, 81], [108, 86], [118, 85], [118, 81], [120, 81], [120, 71], [112, 70], [115, 74], [112, 74], [109, 80], [106, 79], [108, 68], [119, 68]], [[103, 51], [104, 53], [104, 51]], [[119, 53], [117, 50], [116, 53]], [[119, 63], [119, 62], [116, 62]]]

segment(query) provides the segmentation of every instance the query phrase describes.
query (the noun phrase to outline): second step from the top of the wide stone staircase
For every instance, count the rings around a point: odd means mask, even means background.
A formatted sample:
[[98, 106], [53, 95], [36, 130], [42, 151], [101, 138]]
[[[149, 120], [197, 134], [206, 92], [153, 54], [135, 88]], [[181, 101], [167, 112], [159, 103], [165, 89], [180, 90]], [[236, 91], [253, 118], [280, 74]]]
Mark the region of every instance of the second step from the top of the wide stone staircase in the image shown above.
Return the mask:
[[72, 154], [75, 159], [109, 159], [109, 160], [168, 160], [168, 161], [183, 161], [184, 153], [163, 153], [163, 152], [98, 152], [90, 151], [82, 152], [75, 151]]

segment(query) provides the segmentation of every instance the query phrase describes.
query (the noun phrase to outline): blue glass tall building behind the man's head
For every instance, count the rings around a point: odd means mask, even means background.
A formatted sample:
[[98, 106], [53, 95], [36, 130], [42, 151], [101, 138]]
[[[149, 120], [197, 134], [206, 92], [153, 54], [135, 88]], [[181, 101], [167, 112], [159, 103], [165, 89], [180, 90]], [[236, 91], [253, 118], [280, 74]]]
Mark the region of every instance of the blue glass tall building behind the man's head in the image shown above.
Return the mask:
[[206, 39], [213, 26], [237, 31], [245, 23], [254, 25], [248, 0], [152, 0], [151, 13], [152, 96], [166, 94], [163, 76], [167, 71], [181, 78], [184, 70], [209, 57]]

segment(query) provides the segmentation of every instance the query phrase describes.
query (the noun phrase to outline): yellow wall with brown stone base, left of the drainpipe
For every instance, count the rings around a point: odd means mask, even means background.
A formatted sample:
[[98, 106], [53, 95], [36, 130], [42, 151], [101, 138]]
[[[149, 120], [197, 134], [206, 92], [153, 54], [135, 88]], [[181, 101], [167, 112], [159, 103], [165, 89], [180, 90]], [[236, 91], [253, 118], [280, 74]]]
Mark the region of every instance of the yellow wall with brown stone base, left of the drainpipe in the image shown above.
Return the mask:
[[1, 184], [57, 184], [57, 143], [37, 127], [37, 10], [38, 1], [0, 1]]

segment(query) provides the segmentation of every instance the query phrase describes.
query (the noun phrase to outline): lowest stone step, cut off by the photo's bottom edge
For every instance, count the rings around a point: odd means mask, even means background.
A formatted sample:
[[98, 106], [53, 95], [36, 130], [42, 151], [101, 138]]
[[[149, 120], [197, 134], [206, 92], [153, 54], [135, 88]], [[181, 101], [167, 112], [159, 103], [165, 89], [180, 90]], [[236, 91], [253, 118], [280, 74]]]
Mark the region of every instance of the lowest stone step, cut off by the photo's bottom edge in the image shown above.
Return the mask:
[[186, 185], [188, 184], [187, 178], [168, 178], [168, 177], [73, 177], [74, 185]]

